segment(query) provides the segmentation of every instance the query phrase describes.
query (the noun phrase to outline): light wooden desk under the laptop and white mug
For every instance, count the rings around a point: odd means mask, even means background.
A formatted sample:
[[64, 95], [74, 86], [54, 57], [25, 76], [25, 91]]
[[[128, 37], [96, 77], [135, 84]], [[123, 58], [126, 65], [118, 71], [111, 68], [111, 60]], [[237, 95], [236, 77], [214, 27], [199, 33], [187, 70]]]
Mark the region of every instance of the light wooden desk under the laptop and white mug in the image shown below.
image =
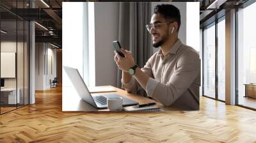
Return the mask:
[[[113, 87], [113, 86], [103, 86], [103, 87]], [[111, 92], [115, 94], [120, 94], [126, 98], [130, 98], [140, 104], [144, 103], [151, 103], [155, 102], [154, 100], [150, 100], [149, 98], [145, 98], [140, 95], [127, 93], [126, 91], [113, 87], [116, 89], [116, 92]], [[96, 96], [99, 94], [109, 94], [109, 93], [93, 93], [92, 96]], [[174, 109], [173, 107], [163, 107], [161, 103], [157, 102], [157, 106], [163, 109], [164, 111], [168, 110], [179, 110]], [[69, 112], [69, 111], [85, 111], [85, 112], [91, 112], [91, 111], [109, 111], [108, 109], [95, 109], [92, 107], [92, 105], [84, 102], [81, 100], [80, 96], [77, 94], [76, 89], [74, 87], [62, 87], [62, 111]]]

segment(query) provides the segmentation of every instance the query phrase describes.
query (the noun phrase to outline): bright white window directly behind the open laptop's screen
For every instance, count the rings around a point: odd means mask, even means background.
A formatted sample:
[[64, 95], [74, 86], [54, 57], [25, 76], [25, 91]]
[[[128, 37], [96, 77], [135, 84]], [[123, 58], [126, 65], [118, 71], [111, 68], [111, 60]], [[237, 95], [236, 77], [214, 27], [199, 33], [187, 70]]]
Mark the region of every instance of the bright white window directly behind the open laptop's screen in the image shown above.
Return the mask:
[[[62, 27], [63, 66], [77, 68], [86, 85], [95, 86], [94, 3], [63, 3]], [[65, 73], [63, 86], [70, 86]]]

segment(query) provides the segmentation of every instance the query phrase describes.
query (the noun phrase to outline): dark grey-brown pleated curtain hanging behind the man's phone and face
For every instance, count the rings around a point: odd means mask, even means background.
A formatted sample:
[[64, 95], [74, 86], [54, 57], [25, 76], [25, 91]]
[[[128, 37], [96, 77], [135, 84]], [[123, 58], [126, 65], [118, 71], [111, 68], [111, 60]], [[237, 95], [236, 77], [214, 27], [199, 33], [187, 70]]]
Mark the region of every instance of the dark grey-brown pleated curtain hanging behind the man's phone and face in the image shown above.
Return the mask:
[[[120, 3], [118, 40], [131, 50], [135, 62], [142, 68], [152, 55], [152, 42], [145, 25], [151, 19], [151, 3]], [[117, 71], [116, 87], [122, 87], [122, 71]]]

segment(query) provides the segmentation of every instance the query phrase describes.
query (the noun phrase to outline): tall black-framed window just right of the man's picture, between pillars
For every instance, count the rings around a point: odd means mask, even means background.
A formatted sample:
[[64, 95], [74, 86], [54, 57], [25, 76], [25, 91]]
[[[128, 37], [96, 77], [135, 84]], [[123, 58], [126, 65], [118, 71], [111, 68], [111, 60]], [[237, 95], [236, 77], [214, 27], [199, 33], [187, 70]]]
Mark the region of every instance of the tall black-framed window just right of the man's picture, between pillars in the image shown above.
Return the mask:
[[203, 30], [203, 95], [222, 102], [226, 84], [225, 38], [225, 15]]

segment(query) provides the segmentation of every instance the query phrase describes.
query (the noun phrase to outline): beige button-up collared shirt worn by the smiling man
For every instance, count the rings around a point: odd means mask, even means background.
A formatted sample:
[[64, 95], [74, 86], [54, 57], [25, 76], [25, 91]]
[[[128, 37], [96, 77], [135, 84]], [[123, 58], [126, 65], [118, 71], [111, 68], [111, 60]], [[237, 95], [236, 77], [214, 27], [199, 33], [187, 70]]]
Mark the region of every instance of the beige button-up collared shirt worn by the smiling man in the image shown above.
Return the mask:
[[[150, 77], [145, 91], [166, 107], [199, 110], [200, 68], [196, 50], [178, 40], [166, 56], [160, 49], [141, 68]], [[131, 93], [141, 89], [134, 77], [122, 84]]]

